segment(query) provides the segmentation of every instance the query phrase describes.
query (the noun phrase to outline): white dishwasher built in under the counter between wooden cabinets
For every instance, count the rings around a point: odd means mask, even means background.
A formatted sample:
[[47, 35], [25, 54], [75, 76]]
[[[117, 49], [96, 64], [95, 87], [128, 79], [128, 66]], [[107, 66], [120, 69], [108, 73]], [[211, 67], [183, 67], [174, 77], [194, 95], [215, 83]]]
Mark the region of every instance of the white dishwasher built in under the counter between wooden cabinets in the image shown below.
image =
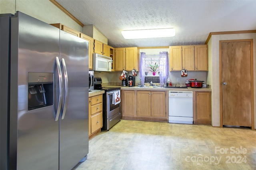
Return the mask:
[[192, 91], [169, 91], [169, 123], [193, 124]]

